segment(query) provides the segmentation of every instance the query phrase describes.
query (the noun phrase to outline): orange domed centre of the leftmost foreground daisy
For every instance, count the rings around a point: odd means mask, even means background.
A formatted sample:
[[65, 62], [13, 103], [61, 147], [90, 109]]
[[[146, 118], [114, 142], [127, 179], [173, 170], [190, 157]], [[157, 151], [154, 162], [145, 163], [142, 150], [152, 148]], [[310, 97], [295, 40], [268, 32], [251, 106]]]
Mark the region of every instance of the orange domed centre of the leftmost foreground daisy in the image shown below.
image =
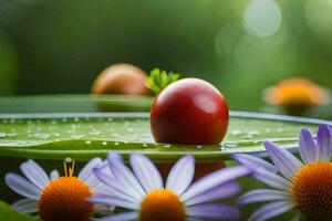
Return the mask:
[[60, 177], [52, 180], [42, 191], [38, 203], [43, 221], [90, 220], [93, 204], [86, 201], [92, 192], [86, 183], [76, 177]]

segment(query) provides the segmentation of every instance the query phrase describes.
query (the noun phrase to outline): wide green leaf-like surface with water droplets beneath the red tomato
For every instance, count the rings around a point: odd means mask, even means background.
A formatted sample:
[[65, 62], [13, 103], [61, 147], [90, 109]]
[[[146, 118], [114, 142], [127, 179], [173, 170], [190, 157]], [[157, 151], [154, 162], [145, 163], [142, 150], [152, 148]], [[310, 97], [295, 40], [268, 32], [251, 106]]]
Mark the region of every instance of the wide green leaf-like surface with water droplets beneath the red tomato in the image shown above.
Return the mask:
[[8, 114], [0, 115], [0, 158], [87, 160], [116, 150], [155, 161], [172, 162], [185, 154], [197, 161], [220, 161], [235, 152], [264, 154], [267, 139], [295, 150], [298, 135], [305, 127], [315, 131], [318, 119], [231, 113], [228, 134], [220, 146], [156, 144], [148, 113]]

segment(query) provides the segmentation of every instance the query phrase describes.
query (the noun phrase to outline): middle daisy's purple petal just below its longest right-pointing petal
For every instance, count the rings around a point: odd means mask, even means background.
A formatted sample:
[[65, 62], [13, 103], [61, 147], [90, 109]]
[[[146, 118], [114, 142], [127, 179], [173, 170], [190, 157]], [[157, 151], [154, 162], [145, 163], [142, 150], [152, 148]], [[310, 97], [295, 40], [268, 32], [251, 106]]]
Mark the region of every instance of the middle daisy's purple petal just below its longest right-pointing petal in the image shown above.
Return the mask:
[[230, 181], [227, 183], [224, 183], [219, 187], [216, 187], [214, 189], [210, 189], [206, 192], [203, 192], [195, 198], [191, 198], [190, 200], [185, 201], [185, 204], [187, 207], [198, 204], [198, 203], [206, 203], [206, 202], [212, 202], [215, 200], [228, 198], [230, 196], [236, 194], [240, 190], [240, 186], [235, 182]]

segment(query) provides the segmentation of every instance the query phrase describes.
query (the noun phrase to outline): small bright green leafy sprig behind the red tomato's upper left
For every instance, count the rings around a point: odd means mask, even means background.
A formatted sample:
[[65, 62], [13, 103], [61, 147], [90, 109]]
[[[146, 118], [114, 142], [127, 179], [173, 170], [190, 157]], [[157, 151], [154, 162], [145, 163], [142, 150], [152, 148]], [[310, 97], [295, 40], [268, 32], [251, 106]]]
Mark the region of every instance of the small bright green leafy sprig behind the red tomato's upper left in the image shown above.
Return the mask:
[[178, 78], [179, 74], [173, 72], [169, 72], [167, 74], [165, 70], [160, 71], [156, 67], [151, 71], [149, 76], [146, 81], [146, 85], [154, 94], [158, 94], [168, 84], [172, 84]]

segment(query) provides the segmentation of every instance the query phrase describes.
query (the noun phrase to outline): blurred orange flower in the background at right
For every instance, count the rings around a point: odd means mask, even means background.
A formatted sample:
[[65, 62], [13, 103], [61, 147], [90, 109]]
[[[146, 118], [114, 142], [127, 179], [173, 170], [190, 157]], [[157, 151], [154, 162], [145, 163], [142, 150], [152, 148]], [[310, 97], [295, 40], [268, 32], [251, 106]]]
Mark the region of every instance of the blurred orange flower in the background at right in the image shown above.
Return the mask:
[[329, 103], [326, 90], [308, 78], [295, 77], [283, 80], [276, 86], [268, 87], [263, 93], [268, 104], [288, 108], [308, 108]]

